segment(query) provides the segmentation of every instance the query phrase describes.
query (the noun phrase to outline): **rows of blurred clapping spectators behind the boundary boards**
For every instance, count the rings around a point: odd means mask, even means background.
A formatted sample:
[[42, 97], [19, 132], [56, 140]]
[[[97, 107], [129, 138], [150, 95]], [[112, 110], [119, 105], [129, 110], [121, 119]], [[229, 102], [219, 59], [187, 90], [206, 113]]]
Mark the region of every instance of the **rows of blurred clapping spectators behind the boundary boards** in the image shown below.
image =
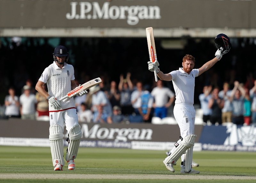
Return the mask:
[[[163, 81], [158, 80], [151, 90], [141, 81], [135, 84], [127, 73], [120, 75], [119, 83], [111, 81], [109, 87], [103, 82], [89, 89], [82, 97], [75, 96], [79, 122], [86, 123], [151, 123], [152, 117], [168, 117], [168, 109], [175, 95]], [[251, 88], [247, 84], [234, 82], [230, 88], [224, 82], [223, 88], [205, 85], [199, 95], [203, 111], [203, 122], [210, 125], [234, 123], [237, 125], [256, 124], [256, 80]], [[5, 97], [5, 118], [48, 120], [48, 101], [36, 92], [31, 80], [27, 80], [21, 95], [9, 88]]]

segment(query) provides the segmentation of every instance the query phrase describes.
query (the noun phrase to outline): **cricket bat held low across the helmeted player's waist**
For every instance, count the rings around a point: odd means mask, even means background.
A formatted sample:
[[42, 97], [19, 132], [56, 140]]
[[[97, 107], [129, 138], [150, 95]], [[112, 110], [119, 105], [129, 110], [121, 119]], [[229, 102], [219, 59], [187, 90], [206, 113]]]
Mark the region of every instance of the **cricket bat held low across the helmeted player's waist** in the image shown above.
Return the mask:
[[87, 90], [87, 89], [89, 89], [89, 88], [92, 88], [93, 86], [98, 85], [98, 84], [100, 84], [101, 82], [102, 82], [102, 81], [101, 81], [100, 78], [95, 78], [95, 79], [93, 79], [93, 80], [90, 80], [90, 81], [88, 81], [88, 82], [82, 84], [81, 86], [79, 86], [79, 87], [77, 87], [77, 88], [71, 90], [70, 92], [68, 92], [67, 95], [63, 96], [63, 97], [60, 98], [59, 100], [64, 100], [65, 98], [68, 98], [68, 97], [71, 98], [71, 97], [75, 96], [76, 94], [78, 94], [80, 91], [82, 91], [82, 90]]

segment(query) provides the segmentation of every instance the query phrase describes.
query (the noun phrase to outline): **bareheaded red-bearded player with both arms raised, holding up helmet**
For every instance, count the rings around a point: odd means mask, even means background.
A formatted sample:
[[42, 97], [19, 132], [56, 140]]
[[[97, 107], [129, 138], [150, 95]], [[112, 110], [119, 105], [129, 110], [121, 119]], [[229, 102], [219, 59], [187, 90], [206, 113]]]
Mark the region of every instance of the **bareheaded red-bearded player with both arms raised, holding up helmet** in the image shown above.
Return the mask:
[[148, 62], [148, 70], [151, 72], [155, 70], [161, 80], [172, 81], [175, 90], [176, 100], [173, 113], [180, 127], [180, 139], [174, 144], [174, 148], [170, 151], [169, 156], [163, 161], [166, 168], [171, 172], [175, 172], [173, 165], [181, 156], [180, 173], [200, 173], [192, 169], [193, 146], [196, 139], [194, 130], [196, 111], [193, 106], [195, 78], [209, 70], [231, 48], [229, 38], [225, 34], [217, 35], [214, 41], [218, 48], [215, 57], [199, 69], [194, 69], [195, 58], [191, 55], [183, 57], [182, 67], [179, 70], [167, 74], [159, 70], [158, 61], [154, 63]]

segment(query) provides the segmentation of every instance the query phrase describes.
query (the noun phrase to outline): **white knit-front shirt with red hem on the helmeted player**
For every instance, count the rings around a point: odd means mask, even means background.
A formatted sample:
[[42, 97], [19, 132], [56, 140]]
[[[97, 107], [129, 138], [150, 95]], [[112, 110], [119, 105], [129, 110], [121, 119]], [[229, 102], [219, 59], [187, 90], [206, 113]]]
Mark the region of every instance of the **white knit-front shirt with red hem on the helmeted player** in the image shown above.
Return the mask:
[[[39, 78], [39, 81], [47, 83], [48, 93], [51, 96], [55, 96], [57, 99], [67, 95], [71, 91], [71, 80], [75, 80], [74, 67], [69, 64], [65, 64], [62, 69], [53, 61], [51, 65], [44, 69], [43, 74]], [[65, 110], [71, 107], [75, 107], [73, 97], [60, 101], [61, 109]], [[59, 111], [51, 107], [49, 104], [49, 111]]]

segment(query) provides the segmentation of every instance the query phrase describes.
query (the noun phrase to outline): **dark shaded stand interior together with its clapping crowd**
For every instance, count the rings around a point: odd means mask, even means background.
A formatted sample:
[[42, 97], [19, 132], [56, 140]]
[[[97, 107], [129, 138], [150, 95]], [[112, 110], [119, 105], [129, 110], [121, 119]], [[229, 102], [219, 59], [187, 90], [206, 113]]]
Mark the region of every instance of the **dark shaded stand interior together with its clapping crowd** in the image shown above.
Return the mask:
[[[145, 50], [141, 49], [146, 44], [145, 39], [0, 38], [0, 60], [2, 68], [4, 68], [0, 80], [2, 86], [0, 88], [0, 118], [3, 116], [3, 110], [6, 114], [5, 118], [11, 116], [38, 119], [38, 117], [45, 117], [49, 114], [48, 101], [36, 93], [33, 83], [37, 82], [45, 66], [53, 62], [53, 44], [67, 45], [68, 62], [76, 70], [75, 77], [78, 84], [83, 84], [96, 77], [103, 80], [99, 85], [100, 90], [95, 88], [94, 91], [93, 89], [89, 90], [89, 93], [83, 97], [74, 98], [77, 111], [81, 113], [80, 121], [150, 122], [153, 116], [164, 118], [167, 115], [170, 117], [166, 111], [171, 111], [175, 100], [172, 82], [161, 83], [159, 81], [156, 83], [152, 73], [148, 72], [148, 50], [147, 47]], [[212, 57], [212, 50], [216, 49], [212, 39], [209, 38], [186, 38], [187, 43], [183, 49], [166, 49], [161, 46], [161, 40], [157, 38], [155, 41], [161, 70], [166, 73], [178, 69], [182, 57], [188, 53], [196, 57], [195, 68], [198, 68], [204, 64], [205, 60]], [[204, 77], [196, 79], [194, 102], [197, 105], [201, 104], [205, 122], [252, 124], [255, 123], [256, 116], [255, 92], [253, 92], [255, 91], [253, 78], [256, 78], [253, 51], [256, 48], [256, 39], [232, 38], [231, 41], [230, 54], [212, 67], [209, 72], [204, 73]], [[106, 47], [106, 45], [108, 46]], [[133, 50], [132, 59], [128, 57], [131, 55], [130, 50]], [[225, 81], [228, 83], [225, 84]], [[238, 90], [233, 97], [230, 97], [233, 88], [237, 85], [235, 81], [240, 82], [237, 86]], [[165, 90], [161, 90], [161, 92], [164, 94], [160, 95], [158, 88], [161, 88], [163, 84]], [[204, 92], [208, 98], [207, 103], [202, 103], [198, 97], [202, 93], [204, 85], [204, 88], [208, 88], [204, 89], [208, 90], [205, 91], [206, 93]], [[226, 92], [224, 86], [225, 88], [228, 86], [230, 91]], [[242, 90], [239, 90], [241, 88]], [[218, 95], [216, 95], [217, 93]], [[103, 96], [103, 94], [105, 100], [99, 101], [99, 96]], [[244, 107], [241, 105], [242, 102], [236, 99], [236, 96], [239, 95], [243, 99], [241, 101], [244, 103]], [[212, 97], [215, 98], [212, 99]], [[24, 101], [26, 102], [24, 103]], [[109, 103], [111, 110], [109, 110]], [[236, 105], [239, 103], [240, 105]], [[209, 106], [211, 107], [209, 108]], [[27, 108], [29, 110], [26, 110]], [[108, 111], [107, 115], [106, 111]], [[102, 120], [100, 116], [105, 117]]]

